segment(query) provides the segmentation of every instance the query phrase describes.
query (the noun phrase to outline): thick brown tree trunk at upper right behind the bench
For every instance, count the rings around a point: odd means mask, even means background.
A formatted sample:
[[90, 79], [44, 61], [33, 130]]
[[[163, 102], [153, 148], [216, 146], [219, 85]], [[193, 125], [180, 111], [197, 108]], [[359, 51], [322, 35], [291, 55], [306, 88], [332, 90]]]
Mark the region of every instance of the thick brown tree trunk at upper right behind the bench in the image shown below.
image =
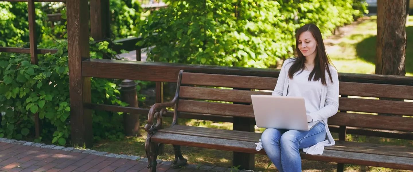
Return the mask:
[[406, 74], [406, 5], [406, 0], [377, 0], [376, 74]]

